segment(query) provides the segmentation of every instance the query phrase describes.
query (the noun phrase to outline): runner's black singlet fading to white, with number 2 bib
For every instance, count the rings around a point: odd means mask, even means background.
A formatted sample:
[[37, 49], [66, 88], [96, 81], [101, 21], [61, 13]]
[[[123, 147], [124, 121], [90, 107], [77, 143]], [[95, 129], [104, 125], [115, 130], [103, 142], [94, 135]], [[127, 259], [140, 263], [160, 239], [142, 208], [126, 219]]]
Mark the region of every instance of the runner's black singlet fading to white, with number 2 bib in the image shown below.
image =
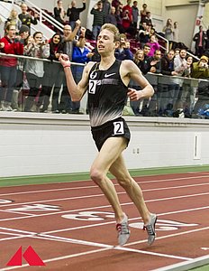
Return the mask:
[[98, 70], [95, 63], [88, 79], [88, 113], [91, 126], [101, 126], [123, 115], [128, 87], [120, 76], [121, 61], [115, 60], [108, 70]]

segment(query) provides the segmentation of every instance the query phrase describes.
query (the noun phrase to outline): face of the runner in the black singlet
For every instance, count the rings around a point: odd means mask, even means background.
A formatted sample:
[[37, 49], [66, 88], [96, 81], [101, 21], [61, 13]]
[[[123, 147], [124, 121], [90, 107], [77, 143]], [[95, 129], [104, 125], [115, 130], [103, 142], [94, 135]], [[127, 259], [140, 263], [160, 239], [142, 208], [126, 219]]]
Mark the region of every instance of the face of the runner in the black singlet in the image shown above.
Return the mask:
[[104, 29], [97, 38], [97, 50], [100, 54], [113, 53], [115, 49], [114, 33]]

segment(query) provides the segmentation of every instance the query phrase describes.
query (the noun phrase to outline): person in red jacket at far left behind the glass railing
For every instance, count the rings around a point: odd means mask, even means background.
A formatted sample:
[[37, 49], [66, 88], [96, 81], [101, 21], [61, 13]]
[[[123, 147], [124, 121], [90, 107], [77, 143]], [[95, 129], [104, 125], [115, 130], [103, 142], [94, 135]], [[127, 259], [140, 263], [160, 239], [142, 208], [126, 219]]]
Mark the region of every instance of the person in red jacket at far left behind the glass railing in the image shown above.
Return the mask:
[[[8, 54], [23, 54], [23, 43], [15, 37], [15, 25], [8, 24], [5, 37], [0, 39], [0, 51]], [[17, 74], [17, 58], [3, 56], [0, 58], [0, 110], [12, 111], [11, 102]]]

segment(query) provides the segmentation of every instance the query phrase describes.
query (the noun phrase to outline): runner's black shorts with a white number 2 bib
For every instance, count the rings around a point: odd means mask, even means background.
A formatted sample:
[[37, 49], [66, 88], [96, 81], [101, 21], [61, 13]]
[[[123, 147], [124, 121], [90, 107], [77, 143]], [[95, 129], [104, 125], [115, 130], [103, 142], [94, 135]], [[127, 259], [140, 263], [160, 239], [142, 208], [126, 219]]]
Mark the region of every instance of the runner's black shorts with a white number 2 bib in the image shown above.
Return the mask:
[[123, 117], [108, 121], [101, 126], [91, 127], [92, 135], [95, 140], [95, 145], [100, 151], [107, 138], [112, 136], [122, 136], [127, 139], [127, 146], [129, 144], [131, 134]]

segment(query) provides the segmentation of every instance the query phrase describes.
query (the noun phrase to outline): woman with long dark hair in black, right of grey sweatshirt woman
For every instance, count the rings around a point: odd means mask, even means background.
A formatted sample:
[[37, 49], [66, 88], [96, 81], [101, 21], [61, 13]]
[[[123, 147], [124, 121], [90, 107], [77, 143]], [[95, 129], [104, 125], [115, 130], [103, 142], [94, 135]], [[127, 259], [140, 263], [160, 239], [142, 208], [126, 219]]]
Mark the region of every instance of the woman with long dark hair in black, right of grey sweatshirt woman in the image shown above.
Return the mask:
[[60, 33], [55, 33], [50, 39], [50, 62], [43, 62], [44, 75], [42, 79], [41, 93], [38, 101], [38, 111], [40, 107], [41, 112], [48, 112], [50, 104], [50, 94], [53, 88], [51, 111], [53, 113], [59, 113], [59, 90], [61, 88], [62, 80], [64, 78], [64, 71], [59, 63], [60, 53], [64, 51], [64, 43]]

